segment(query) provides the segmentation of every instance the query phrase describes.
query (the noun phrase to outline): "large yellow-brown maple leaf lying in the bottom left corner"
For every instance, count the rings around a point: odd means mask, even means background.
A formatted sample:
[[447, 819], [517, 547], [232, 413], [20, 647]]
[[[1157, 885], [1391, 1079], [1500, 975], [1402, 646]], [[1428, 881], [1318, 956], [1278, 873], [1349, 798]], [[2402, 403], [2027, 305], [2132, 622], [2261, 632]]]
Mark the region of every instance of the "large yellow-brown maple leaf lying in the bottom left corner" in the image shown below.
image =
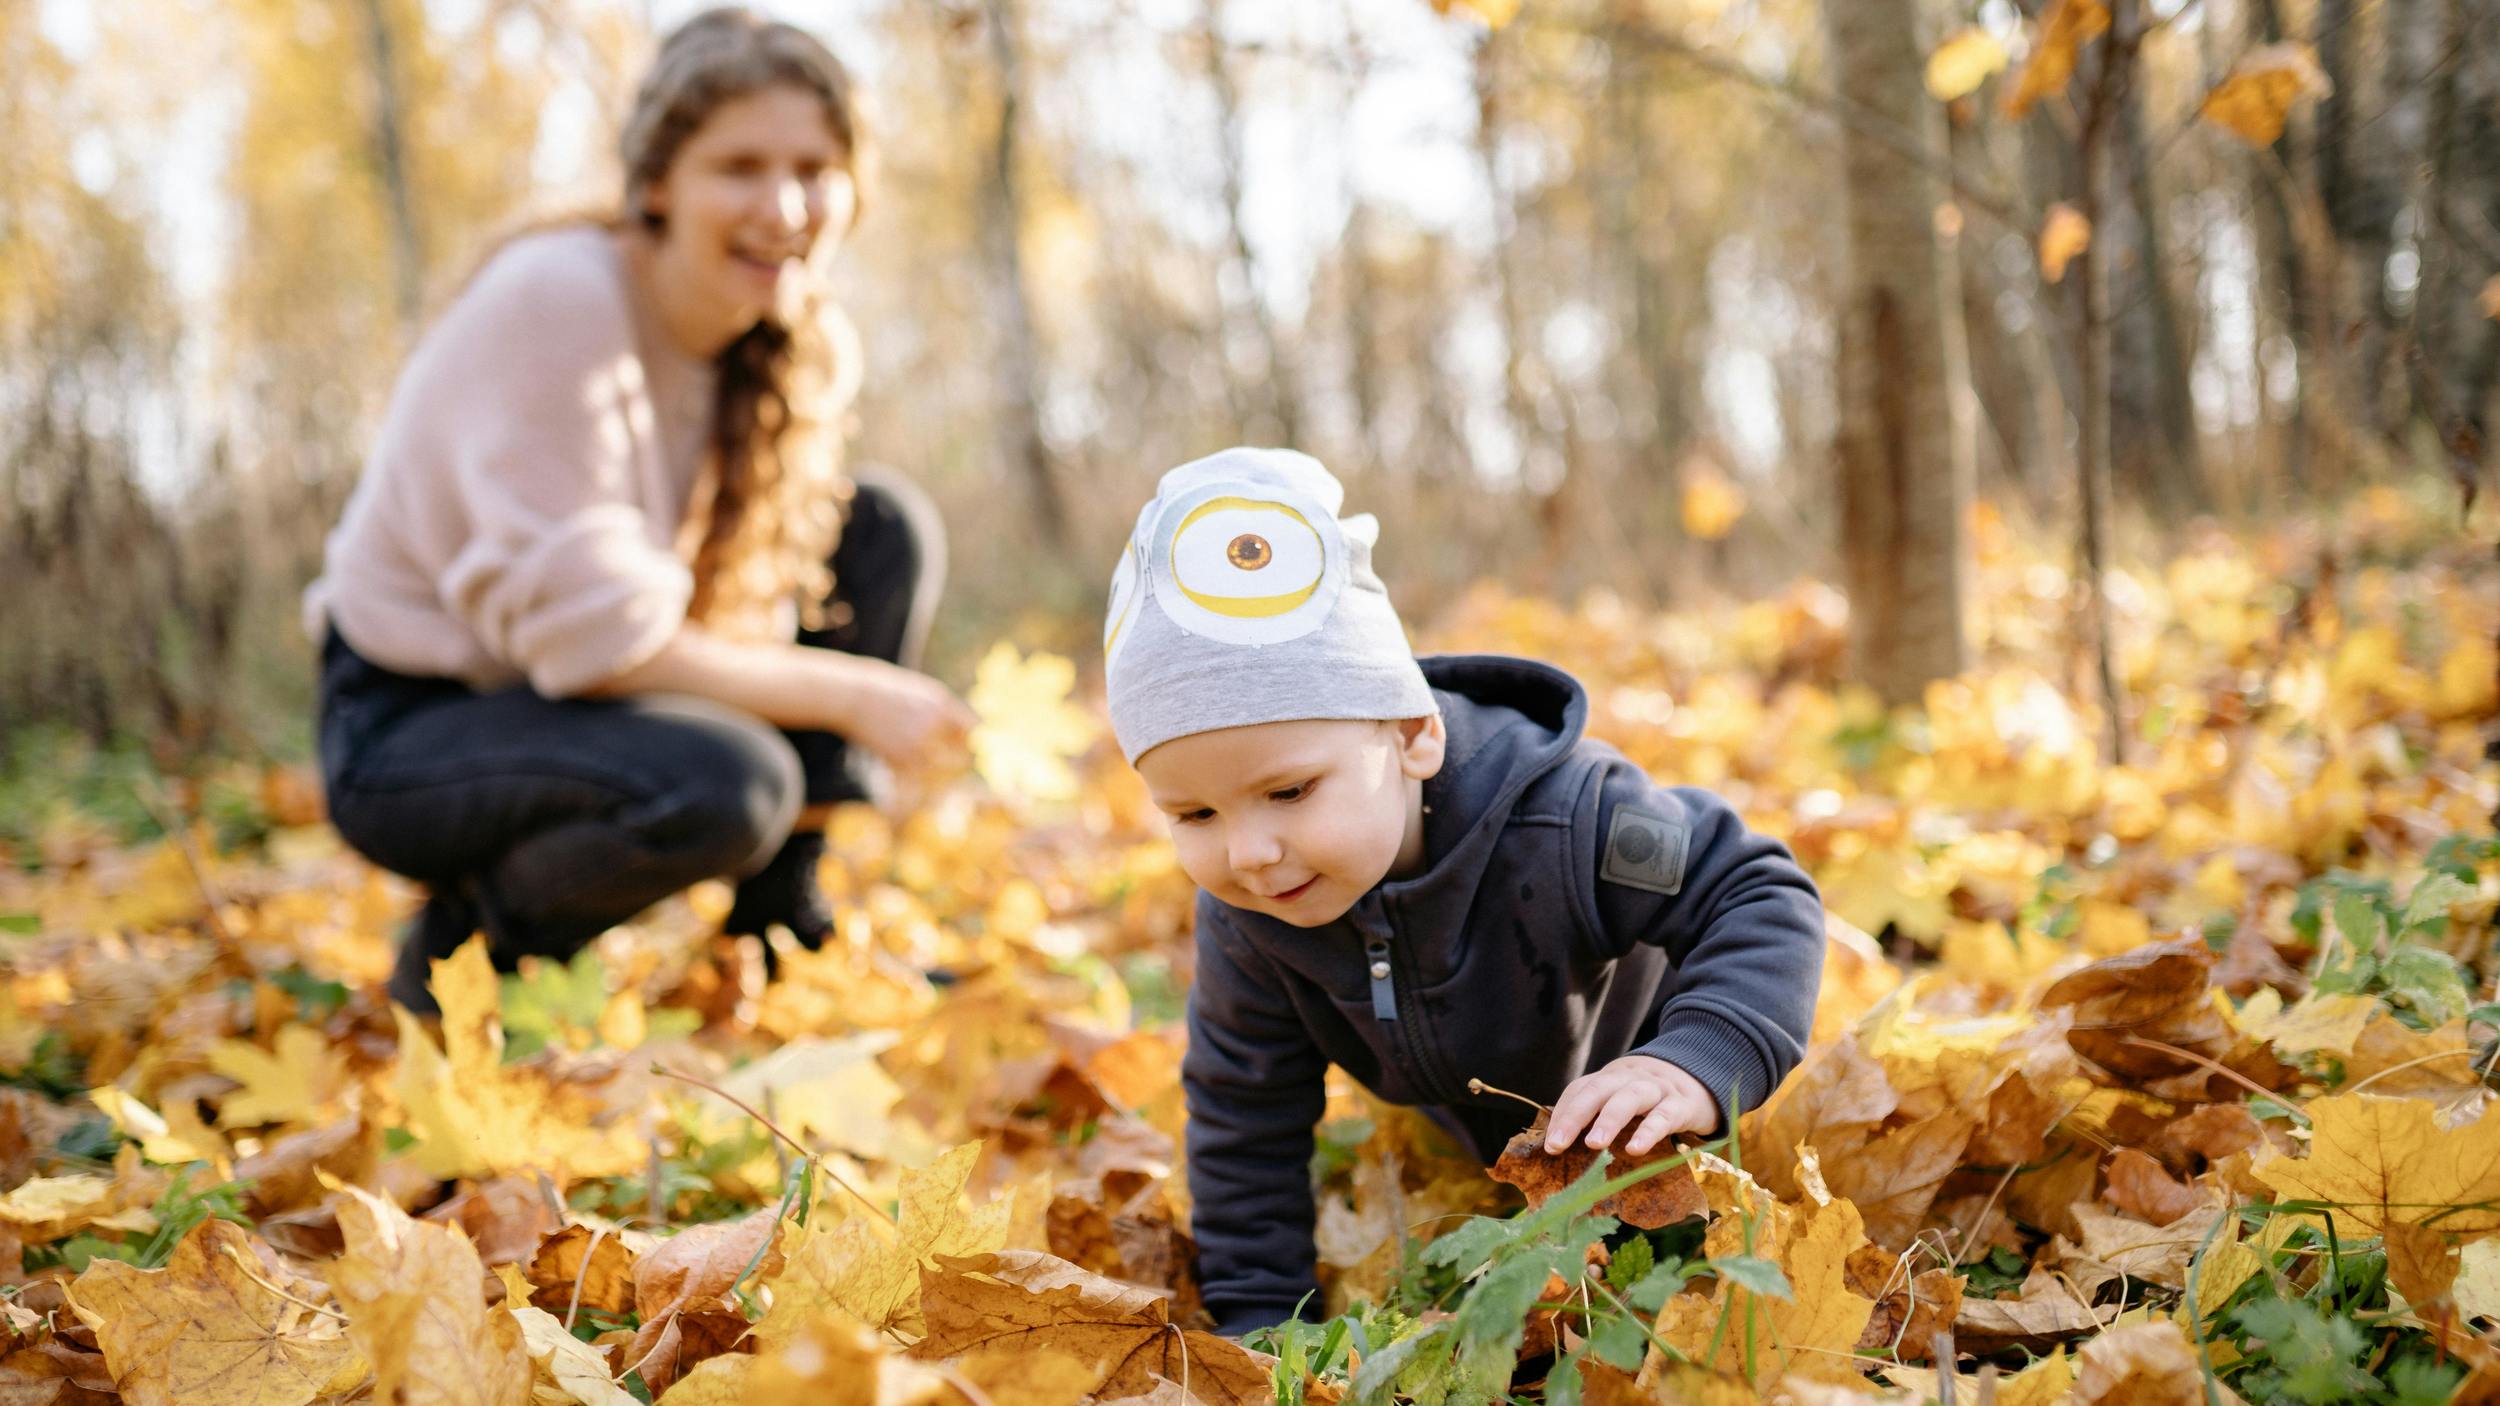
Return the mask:
[[[272, 1293], [250, 1236], [200, 1221], [165, 1268], [95, 1258], [70, 1303], [130, 1406], [302, 1406], [365, 1378], [338, 1318]], [[268, 1273], [262, 1273], [268, 1271]], [[475, 1286], [470, 1288], [475, 1296]]]

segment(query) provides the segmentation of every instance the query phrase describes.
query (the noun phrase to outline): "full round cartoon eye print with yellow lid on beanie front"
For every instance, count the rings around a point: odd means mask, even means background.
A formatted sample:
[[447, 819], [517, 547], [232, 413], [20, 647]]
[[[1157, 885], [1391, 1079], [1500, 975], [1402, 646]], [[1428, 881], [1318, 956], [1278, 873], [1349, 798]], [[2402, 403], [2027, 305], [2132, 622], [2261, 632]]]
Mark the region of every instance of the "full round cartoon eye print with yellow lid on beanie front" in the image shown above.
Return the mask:
[[1212, 483], [1165, 508], [1152, 595], [1190, 630], [1232, 645], [1278, 645], [1328, 620], [1345, 590], [1335, 513], [1275, 488]]

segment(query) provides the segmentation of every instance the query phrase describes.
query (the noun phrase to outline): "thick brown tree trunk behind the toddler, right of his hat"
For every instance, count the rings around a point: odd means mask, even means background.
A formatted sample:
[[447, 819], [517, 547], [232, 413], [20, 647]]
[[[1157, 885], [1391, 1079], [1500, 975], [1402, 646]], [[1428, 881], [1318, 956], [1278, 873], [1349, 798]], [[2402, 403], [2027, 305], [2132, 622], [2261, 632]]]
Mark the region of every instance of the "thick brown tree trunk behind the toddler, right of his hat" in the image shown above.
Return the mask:
[[[1942, 153], [1915, 0], [1822, 0], [1845, 100]], [[1840, 553], [1855, 673], [1892, 703], [1968, 665], [1972, 495], [1960, 285], [1938, 248], [1935, 160], [1840, 125]]]

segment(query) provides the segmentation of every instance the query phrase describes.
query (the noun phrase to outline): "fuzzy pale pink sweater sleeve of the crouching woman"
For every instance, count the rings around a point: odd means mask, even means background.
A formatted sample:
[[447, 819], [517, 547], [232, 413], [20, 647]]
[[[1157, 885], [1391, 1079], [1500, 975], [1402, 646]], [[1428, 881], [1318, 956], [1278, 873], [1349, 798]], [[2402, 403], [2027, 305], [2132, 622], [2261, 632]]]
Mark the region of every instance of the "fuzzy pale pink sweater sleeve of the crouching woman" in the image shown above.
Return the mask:
[[610, 270], [515, 245], [430, 338], [418, 393], [448, 418], [470, 538], [442, 608], [550, 698], [660, 650], [692, 573], [655, 530], [638, 473], [650, 388]]

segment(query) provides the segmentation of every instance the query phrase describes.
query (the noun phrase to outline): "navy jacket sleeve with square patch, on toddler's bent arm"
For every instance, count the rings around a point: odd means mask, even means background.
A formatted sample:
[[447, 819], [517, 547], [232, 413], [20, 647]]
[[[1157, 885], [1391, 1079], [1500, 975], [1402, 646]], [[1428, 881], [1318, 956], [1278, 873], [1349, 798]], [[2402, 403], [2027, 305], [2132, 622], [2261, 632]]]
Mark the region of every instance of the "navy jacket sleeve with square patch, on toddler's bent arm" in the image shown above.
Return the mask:
[[1805, 1056], [1815, 1021], [1815, 881], [1722, 798], [1655, 786], [1630, 763], [1608, 768], [1592, 848], [1602, 956], [1652, 943], [1675, 963], [1658, 1036], [1630, 1053], [1682, 1068], [1722, 1108], [1762, 1103]]

